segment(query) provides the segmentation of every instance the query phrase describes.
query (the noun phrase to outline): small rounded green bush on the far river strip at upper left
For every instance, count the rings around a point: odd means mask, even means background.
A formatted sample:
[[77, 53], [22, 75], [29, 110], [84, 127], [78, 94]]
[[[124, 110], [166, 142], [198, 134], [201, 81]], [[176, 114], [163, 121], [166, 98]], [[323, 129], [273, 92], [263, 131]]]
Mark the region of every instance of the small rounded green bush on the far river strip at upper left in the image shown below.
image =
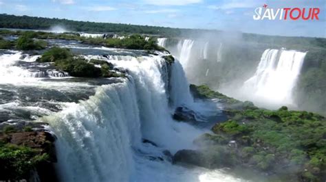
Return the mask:
[[41, 50], [47, 47], [47, 42], [43, 40], [33, 40], [32, 35], [26, 32], [16, 41], [16, 48], [23, 51]]

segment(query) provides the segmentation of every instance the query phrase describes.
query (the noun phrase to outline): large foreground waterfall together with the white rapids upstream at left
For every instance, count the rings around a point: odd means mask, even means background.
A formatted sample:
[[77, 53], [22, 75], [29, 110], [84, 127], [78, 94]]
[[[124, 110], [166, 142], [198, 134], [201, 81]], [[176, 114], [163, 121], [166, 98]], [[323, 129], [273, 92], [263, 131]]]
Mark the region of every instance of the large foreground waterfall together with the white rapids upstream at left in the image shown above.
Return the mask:
[[193, 140], [207, 132], [172, 119], [175, 107], [193, 99], [180, 62], [167, 64], [163, 55], [84, 55], [126, 70], [126, 77], [99, 86], [87, 79], [39, 79], [50, 64], [11, 51], [0, 55], [1, 91], [19, 96], [2, 96], [0, 109], [30, 111], [30, 119], [50, 124], [45, 128], [57, 138], [61, 181], [239, 181], [221, 170], [173, 165], [163, 154], [195, 149]]

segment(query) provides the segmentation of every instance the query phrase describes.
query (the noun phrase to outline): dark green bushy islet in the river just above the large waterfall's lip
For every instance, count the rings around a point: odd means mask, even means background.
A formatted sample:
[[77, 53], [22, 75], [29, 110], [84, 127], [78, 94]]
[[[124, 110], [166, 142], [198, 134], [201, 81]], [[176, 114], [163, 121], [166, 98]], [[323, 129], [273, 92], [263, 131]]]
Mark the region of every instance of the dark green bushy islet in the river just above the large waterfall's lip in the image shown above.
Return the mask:
[[[102, 60], [90, 60], [72, 54], [69, 49], [52, 47], [45, 51], [37, 62], [54, 62], [59, 70], [63, 70], [73, 77], [123, 77], [113, 71], [113, 65]], [[100, 64], [100, 68], [94, 64]]]

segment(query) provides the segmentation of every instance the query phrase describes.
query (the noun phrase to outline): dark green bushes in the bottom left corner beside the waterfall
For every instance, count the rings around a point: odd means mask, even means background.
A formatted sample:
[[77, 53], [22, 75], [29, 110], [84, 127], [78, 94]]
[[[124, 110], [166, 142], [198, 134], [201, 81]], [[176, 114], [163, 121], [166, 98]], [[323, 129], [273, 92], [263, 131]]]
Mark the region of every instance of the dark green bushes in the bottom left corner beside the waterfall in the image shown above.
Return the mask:
[[21, 180], [30, 177], [30, 171], [50, 156], [37, 149], [0, 142], [0, 171], [2, 179]]

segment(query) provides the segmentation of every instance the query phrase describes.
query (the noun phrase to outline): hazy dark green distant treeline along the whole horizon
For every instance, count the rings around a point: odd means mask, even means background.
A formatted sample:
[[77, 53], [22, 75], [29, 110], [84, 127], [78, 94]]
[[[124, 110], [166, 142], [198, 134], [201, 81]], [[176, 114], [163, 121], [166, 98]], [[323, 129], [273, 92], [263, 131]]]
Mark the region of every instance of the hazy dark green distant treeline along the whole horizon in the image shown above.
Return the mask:
[[[61, 25], [69, 31], [84, 31], [89, 33], [120, 33], [120, 34], [151, 34], [164, 37], [202, 38], [203, 35], [217, 36], [222, 31], [208, 29], [179, 29], [171, 27], [155, 27], [147, 25], [130, 25], [122, 23], [96, 23], [89, 21], [71, 21], [59, 18], [42, 18], [32, 16], [15, 16], [0, 14], [0, 28], [12, 29], [50, 29]], [[230, 33], [232, 34], [232, 33]], [[226, 36], [226, 32], [221, 36]], [[326, 48], [325, 38], [303, 38], [285, 36], [265, 36], [259, 34], [242, 34], [248, 42], [280, 44], [287, 49], [311, 49], [312, 47]]]

